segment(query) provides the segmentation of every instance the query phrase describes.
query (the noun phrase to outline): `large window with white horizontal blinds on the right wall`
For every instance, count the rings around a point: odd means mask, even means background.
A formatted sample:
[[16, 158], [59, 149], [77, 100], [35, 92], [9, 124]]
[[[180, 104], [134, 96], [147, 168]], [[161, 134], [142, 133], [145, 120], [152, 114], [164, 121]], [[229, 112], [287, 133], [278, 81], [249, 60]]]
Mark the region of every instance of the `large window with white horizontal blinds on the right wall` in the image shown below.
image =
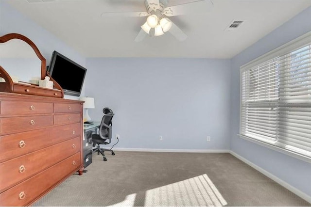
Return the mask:
[[241, 67], [240, 134], [311, 159], [311, 32]]

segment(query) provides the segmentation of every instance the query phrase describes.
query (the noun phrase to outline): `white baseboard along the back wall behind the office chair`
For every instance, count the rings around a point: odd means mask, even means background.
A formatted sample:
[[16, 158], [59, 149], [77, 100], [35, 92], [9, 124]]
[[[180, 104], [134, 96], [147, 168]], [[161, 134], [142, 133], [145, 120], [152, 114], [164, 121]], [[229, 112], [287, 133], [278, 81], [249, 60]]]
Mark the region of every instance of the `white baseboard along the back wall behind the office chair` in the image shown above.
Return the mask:
[[118, 148], [113, 151], [132, 151], [132, 152], [192, 152], [192, 153], [229, 153], [228, 149], [152, 149], [152, 148]]

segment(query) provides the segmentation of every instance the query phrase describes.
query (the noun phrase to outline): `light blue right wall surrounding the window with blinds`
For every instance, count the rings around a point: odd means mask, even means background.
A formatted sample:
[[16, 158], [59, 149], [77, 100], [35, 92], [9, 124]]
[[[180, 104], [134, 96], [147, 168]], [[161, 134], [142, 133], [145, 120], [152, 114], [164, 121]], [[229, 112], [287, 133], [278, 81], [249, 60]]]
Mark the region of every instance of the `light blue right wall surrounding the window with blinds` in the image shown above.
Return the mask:
[[240, 66], [311, 31], [311, 7], [232, 59], [231, 149], [264, 170], [311, 196], [311, 164], [237, 136], [240, 119]]

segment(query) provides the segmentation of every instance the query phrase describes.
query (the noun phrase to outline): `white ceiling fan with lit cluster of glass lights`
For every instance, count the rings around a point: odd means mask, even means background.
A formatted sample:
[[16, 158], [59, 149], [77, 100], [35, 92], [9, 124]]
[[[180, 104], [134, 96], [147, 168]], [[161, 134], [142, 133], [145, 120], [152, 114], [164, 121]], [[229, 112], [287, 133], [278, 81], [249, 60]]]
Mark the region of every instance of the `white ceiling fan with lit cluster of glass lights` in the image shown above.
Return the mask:
[[145, 0], [146, 11], [108, 12], [103, 13], [102, 16], [147, 16], [146, 22], [141, 25], [141, 30], [135, 38], [136, 42], [142, 41], [147, 35], [159, 36], [164, 32], [170, 32], [177, 40], [184, 41], [187, 34], [168, 17], [208, 12], [212, 9], [213, 2], [211, 0], [194, 0], [169, 7], [167, 5], [168, 0]]

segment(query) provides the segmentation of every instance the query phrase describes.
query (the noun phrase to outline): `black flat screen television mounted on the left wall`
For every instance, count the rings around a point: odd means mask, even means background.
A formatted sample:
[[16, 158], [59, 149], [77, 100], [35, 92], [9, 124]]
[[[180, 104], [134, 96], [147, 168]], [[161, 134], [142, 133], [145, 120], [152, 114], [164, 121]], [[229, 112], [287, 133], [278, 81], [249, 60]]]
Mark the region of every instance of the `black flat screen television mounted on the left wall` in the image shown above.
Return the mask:
[[80, 96], [86, 76], [86, 68], [73, 62], [57, 51], [53, 51], [48, 72], [63, 88], [64, 94]]

